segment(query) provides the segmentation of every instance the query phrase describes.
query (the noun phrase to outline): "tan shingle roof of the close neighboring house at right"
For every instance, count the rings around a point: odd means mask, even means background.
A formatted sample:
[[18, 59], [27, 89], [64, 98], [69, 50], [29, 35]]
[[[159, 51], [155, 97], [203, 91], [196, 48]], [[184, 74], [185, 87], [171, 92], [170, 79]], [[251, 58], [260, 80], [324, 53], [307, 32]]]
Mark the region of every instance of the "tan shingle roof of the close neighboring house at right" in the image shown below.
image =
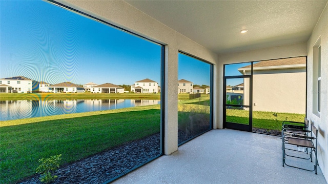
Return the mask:
[[[285, 58], [285, 59], [263, 60], [261, 62], [253, 64], [253, 68], [270, 67], [273, 69], [273, 68], [278, 68], [278, 66], [295, 66], [295, 68], [305, 67], [306, 57], [292, 57], [292, 58]], [[245, 68], [251, 68], [251, 65], [241, 67], [238, 70], [242, 70]]]

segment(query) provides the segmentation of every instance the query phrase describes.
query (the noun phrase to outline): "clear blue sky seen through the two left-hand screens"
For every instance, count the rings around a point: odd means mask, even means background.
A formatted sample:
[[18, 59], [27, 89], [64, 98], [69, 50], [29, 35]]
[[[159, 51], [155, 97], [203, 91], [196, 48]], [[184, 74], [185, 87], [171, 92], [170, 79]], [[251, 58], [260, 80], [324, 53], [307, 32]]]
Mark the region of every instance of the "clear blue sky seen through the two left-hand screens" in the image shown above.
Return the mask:
[[[50, 84], [160, 82], [160, 45], [43, 1], [0, 1], [0, 7], [0, 78], [23, 75]], [[179, 79], [209, 85], [210, 65], [181, 55]]]

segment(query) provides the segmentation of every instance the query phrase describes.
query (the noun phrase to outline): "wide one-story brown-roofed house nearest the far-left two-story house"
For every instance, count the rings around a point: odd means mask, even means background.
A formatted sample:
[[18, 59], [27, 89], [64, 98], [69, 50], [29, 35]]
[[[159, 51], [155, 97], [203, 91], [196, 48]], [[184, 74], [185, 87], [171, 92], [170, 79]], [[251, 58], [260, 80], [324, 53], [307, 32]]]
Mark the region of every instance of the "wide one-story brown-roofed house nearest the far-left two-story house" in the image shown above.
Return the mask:
[[49, 86], [49, 92], [52, 93], [83, 93], [84, 88], [71, 82], [58, 83]]

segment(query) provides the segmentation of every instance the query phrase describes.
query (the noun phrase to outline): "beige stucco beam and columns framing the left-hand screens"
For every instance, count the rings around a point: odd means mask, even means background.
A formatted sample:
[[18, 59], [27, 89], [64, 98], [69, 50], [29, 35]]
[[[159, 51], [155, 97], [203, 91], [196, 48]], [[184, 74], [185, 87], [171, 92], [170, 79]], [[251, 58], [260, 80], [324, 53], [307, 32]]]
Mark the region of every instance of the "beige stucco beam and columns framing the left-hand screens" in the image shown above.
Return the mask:
[[[113, 25], [130, 30], [165, 45], [165, 84], [160, 84], [164, 92], [164, 152], [171, 154], [178, 149], [178, 51], [189, 53], [214, 64], [216, 74], [217, 54], [195, 43], [161, 24], [156, 19], [139, 11], [124, 1], [59, 1], [69, 7], [88, 13]], [[218, 86], [214, 83], [214, 112], [217, 112]], [[214, 113], [214, 128], [219, 117]]]

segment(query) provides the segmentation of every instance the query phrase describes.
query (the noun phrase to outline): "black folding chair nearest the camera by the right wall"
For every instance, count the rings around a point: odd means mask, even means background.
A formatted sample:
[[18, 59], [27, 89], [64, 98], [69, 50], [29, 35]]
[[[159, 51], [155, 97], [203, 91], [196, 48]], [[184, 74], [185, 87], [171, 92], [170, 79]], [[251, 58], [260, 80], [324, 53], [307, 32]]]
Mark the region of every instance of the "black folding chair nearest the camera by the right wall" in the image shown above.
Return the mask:
[[[282, 143], [282, 166], [284, 167], [284, 165], [286, 165], [286, 166], [290, 166], [290, 167], [293, 167], [293, 168], [298, 168], [298, 169], [302, 169], [302, 170], [306, 170], [306, 171], [315, 171], [315, 173], [317, 174], [317, 166], [319, 165], [318, 164], [318, 159], [317, 159], [318, 129], [313, 124], [311, 124], [311, 131], [302, 130], [302, 132], [304, 132], [305, 134], [311, 132], [311, 136], [299, 135], [299, 134], [285, 134], [285, 135], [283, 135], [283, 137], [282, 137], [282, 141], [283, 141], [283, 143]], [[314, 143], [314, 141], [315, 141], [315, 143]], [[285, 148], [286, 145], [293, 145], [293, 146], [296, 146], [297, 148], [304, 147], [306, 149], [310, 149], [309, 158], [308, 157], [300, 157], [300, 156], [296, 156], [296, 155], [286, 154], [286, 148]], [[295, 150], [288, 149], [288, 150], [297, 151], [296, 149]], [[285, 162], [286, 156], [294, 157], [294, 158], [300, 158], [300, 159], [311, 159], [311, 162], [312, 162], [313, 153], [315, 154], [315, 164], [314, 164], [314, 169], [313, 170], [288, 165]], [[308, 152], [306, 152], [306, 154], [308, 154]]]

